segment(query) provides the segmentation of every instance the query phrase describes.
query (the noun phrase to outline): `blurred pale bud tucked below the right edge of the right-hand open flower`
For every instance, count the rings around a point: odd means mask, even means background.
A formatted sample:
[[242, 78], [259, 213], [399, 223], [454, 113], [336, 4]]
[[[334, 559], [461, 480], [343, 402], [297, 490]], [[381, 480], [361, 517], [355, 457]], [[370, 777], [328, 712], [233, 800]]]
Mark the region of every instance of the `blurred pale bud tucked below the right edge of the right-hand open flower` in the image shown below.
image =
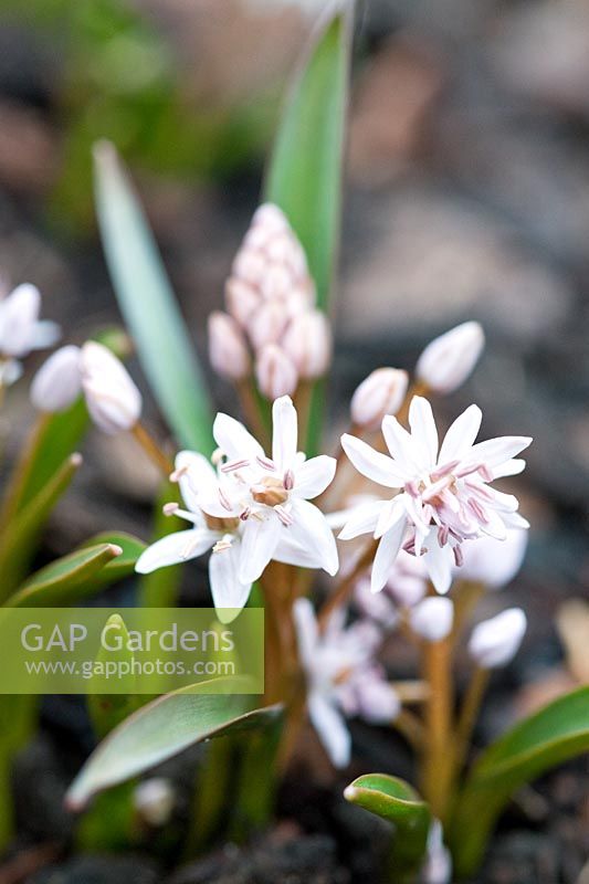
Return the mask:
[[511, 583], [524, 561], [528, 533], [522, 528], [507, 532], [505, 540], [477, 537], [462, 544], [464, 560], [455, 570], [461, 580], [484, 583], [493, 589]]

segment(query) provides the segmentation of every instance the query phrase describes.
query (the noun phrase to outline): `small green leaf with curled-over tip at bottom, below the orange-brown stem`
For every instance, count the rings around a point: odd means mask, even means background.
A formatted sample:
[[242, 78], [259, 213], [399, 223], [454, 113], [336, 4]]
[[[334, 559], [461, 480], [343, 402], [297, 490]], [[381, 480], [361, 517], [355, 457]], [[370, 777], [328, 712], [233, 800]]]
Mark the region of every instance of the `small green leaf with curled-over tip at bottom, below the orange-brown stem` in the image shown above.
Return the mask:
[[350, 782], [344, 796], [395, 825], [392, 867], [399, 876], [413, 875], [423, 861], [432, 821], [428, 804], [416, 790], [398, 777], [366, 774]]

